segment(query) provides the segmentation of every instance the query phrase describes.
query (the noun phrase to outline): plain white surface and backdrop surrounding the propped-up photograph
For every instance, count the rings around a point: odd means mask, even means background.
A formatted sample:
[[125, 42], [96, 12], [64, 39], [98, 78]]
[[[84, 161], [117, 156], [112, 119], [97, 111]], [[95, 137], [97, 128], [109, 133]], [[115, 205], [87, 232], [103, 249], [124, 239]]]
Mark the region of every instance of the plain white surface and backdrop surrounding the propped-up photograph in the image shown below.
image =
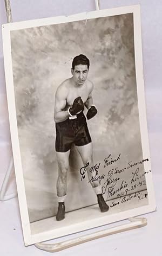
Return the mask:
[[[71, 15], [78, 12], [95, 10], [95, 0], [10, 0], [13, 21], [33, 18]], [[144, 228], [117, 234], [96, 241], [87, 242], [55, 255], [162, 255], [161, 235], [161, 45], [162, 45], [162, 1], [148, 0], [100, 0], [100, 9], [120, 7], [124, 5], [141, 5], [141, 25], [143, 37], [144, 81], [146, 94], [147, 122], [150, 139], [150, 151], [154, 187], [158, 211], [145, 215], [148, 225]], [[4, 1], [0, 1], [0, 23], [6, 23]], [[6, 104], [6, 91], [3, 67], [2, 35], [0, 35], [0, 187], [11, 157], [11, 142]], [[15, 180], [12, 178], [13, 182]], [[14, 183], [15, 184], [15, 183]], [[9, 189], [13, 191], [15, 186]], [[1, 255], [48, 255], [35, 246], [24, 247], [21, 220], [17, 199], [0, 202], [0, 254]], [[105, 228], [105, 227], [104, 227]], [[15, 230], [14, 230], [15, 229]], [[88, 233], [94, 232], [95, 229]], [[79, 236], [79, 234], [73, 235]], [[71, 237], [71, 236], [70, 236]], [[69, 239], [66, 237], [65, 239]]]

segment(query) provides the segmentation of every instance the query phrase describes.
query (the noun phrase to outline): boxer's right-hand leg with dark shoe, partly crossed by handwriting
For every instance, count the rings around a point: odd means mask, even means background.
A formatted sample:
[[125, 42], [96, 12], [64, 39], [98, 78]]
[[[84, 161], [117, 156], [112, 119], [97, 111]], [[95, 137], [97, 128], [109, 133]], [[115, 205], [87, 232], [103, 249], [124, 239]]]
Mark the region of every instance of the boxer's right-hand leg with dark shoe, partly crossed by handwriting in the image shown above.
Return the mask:
[[[92, 176], [94, 176], [93, 172], [90, 172], [90, 168], [93, 167], [93, 157], [92, 157], [92, 142], [88, 143], [84, 146], [77, 146], [78, 152], [82, 158], [84, 166], [89, 163], [89, 165], [86, 167], [87, 175], [89, 178], [89, 181], [91, 181]], [[107, 206], [104, 197], [102, 195], [102, 188], [99, 184], [99, 181], [90, 182], [96, 195], [97, 195], [97, 201], [101, 212], [107, 212], [109, 210], [109, 206]]]

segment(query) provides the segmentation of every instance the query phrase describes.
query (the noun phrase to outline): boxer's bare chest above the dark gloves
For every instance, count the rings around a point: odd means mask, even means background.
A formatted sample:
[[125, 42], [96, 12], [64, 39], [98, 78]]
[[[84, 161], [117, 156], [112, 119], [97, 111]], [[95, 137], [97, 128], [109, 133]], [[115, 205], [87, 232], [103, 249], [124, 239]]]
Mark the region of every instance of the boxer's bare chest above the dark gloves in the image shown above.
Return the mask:
[[81, 97], [83, 102], [85, 103], [85, 101], [87, 100], [87, 98], [89, 97], [89, 91], [87, 90], [87, 87], [85, 86], [84, 88], [72, 88], [69, 90], [69, 94], [68, 97], [66, 99], [67, 104], [69, 106], [72, 106], [73, 101], [78, 98]]

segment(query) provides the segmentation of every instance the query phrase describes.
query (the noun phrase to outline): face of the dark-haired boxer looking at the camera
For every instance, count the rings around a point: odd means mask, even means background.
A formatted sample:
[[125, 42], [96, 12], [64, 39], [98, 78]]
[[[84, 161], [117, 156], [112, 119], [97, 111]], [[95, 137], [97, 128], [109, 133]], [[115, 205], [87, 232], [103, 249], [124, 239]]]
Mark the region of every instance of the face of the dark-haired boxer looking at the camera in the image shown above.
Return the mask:
[[76, 65], [75, 69], [72, 70], [71, 73], [73, 75], [73, 80], [75, 81], [76, 85], [81, 86], [84, 84], [87, 74], [89, 73], [89, 69], [87, 68], [87, 65]]

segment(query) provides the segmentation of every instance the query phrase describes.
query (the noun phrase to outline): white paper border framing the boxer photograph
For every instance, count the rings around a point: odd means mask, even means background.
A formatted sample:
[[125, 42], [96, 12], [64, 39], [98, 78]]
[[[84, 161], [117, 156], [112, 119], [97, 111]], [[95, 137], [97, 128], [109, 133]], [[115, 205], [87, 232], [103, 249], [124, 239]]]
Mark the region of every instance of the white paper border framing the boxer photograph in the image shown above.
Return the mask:
[[[5, 67], [5, 80], [6, 80], [6, 93], [8, 98], [9, 121], [11, 131], [12, 151], [14, 156], [15, 174], [18, 190], [19, 208], [21, 212], [22, 228], [25, 246], [35, 244], [37, 242], [46, 241], [59, 236], [68, 235], [86, 229], [94, 228], [97, 226], [106, 225], [108, 223], [127, 219], [129, 217], [138, 216], [141, 214], [153, 212], [156, 209], [156, 202], [153, 189], [152, 172], [146, 175], [146, 184], [149, 204], [147, 206], [134, 208], [125, 212], [120, 212], [108, 216], [99, 217], [92, 221], [80, 222], [77, 225], [70, 225], [66, 228], [53, 229], [50, 232], [43, 232], [39, 234], [31, 234], [31, 226], [29, 222], [28, 207], [26, 203], [23, 170], [21, 162], [21, 151], [19, 148], [17, 119], [16, 119], [16, 106], [14, 94], [14, 80], [12, 74], [12, 57], [11, 57], [11, 37], [10, 31], [40, 27], [43, 25], [52, 25], [67, 23], [73, 21], [89, 20], [92, 18], [115, 16], [122, 14], [133, 13], [134, 24], [134, 51], [136, 63], [136, 81], [137, 81], [137, 94], [138, 94], [138, 108], [139, 108], [139, 122], [141, 133], [141, 144], [143, 149], [143, 159], [150, 159], [149, 138], [147, 133], [147, 120], [146, 120], [146, 106], [145, 106], [145, 92], [143, 80], [143, 58], [141, 46], [141, 21], [140, 21], [140, 5], [132, 5], [127, 7], [119, 7], [113, 9], [97, 10], [92, 12], [84, 12], [72, 16], [58, 16], [51, 18], [42, 18], [38, 20], [15, 22], [2, 25], [3, 32], [3, 51], [4, 51], [4, 67]], [[144, 163], [146, 170], [151, 170], [149, 162]]]

